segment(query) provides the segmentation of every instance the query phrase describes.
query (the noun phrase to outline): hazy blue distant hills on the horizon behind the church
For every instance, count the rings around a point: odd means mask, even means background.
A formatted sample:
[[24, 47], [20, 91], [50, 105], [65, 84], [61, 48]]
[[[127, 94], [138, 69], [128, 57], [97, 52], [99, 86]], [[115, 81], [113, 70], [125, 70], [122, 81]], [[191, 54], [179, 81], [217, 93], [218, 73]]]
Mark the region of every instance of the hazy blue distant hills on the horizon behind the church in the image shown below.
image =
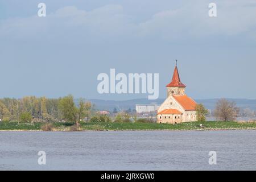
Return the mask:
[[[215, 104], [218, 99], [203, 99], [203, 100], [195, 100], [197, 103], [203, 104], [207, 109], [214, 109]], [[249, 108], [251, 110], [256, 110], [256, 100], [248, 100], [248, 99], [232, 99], [229, 98], [229, 101], [234, 101], [237, 103], [238, 107]], [[97, 100], [97, 99], [90, 99], [88, 100], [92, 102], [96, 106], [98, 110], [108, 110], [113, 111], [114, 107], [117, 110], [127, 110], [129, 108], [135, 109], [136, 104], [152, 104], [156, 103], [158, 105], [162, 104], [164, 101], [163, 98], [159, 98], [158, 100], [147, 100], [146, 98], [139, 98], [134, 100], [126, 100], [126, 101], [114, 101], [114, 100]]]

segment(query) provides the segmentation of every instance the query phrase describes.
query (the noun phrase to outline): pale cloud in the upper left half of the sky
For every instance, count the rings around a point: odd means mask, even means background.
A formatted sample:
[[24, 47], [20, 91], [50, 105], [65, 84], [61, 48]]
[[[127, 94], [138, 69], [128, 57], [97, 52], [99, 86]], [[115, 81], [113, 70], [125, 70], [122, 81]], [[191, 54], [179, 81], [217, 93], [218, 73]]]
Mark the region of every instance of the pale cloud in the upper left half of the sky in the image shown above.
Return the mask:
[[[0, 22], [0, 39], [39, 40], [40, 38], [106, 38], [132, 32], [129, 16], [120, 5], [106, 5], [92, 11], [68, 6], [46, 17], [32, 16]], [[60, 37], [61, 36], [61, 37]]]

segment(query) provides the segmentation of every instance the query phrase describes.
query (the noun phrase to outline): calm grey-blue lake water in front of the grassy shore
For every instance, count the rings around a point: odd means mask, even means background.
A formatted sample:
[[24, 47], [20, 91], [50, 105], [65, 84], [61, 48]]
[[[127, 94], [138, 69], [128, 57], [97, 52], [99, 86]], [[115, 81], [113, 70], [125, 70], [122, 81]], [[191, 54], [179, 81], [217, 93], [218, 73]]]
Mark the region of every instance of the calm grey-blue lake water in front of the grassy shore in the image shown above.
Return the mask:
[[256, 131], [0, 132], [0, 169], [255, 170], [255, 140]]

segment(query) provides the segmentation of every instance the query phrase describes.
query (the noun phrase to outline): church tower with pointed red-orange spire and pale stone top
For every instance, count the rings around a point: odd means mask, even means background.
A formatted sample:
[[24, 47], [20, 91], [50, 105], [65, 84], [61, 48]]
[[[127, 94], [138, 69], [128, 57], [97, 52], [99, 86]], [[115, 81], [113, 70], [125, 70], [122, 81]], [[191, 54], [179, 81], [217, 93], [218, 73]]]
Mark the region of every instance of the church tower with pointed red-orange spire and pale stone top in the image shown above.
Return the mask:
[[167, 87], [167, 97], [170, 95], [185, 95], [185, 85], [180, 81], [179, 71], [177, 69], [177, 60], [174, 69], [174, 75], [172, 76], [172, 81]]

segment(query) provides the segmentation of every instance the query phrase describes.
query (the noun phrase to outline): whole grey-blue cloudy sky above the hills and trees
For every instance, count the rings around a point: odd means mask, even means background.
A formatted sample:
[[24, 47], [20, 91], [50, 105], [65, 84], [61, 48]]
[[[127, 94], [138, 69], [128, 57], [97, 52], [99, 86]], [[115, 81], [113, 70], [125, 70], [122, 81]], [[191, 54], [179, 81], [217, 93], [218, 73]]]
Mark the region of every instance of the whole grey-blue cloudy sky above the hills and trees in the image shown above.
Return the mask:
[[159, 73], [165, 98], [175, 60], [192, 98], [256, 99], [256, 1], [0, 0], [0, 98], [147, 98], [99, 94], [110, 68]]

